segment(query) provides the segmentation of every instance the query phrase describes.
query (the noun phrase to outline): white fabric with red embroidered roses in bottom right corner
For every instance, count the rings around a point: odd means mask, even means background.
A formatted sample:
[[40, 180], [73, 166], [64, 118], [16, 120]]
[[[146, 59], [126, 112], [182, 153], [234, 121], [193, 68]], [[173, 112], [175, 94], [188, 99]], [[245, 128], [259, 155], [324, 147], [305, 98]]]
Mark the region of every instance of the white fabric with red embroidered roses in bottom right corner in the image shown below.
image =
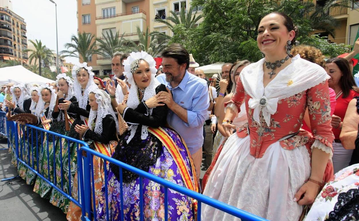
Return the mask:
[[[340, 193], [359, 188], [359, 164], [340, 170], [334, 177], [332, 181], [325, 184], [318, 194], [304, 221], [326, 220], [329, 218], [329, 213], [334, 210]], [[351, 220], [350, 217], [348, 218]]]

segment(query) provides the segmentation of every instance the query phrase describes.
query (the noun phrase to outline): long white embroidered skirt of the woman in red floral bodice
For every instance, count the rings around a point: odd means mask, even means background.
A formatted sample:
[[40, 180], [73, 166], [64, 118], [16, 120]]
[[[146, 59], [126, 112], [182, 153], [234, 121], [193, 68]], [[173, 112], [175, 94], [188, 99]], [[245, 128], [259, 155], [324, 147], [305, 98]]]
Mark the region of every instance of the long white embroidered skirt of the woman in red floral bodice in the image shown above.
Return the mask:
[[[310, 158], [305, 146], [283, 149], [271, 144], [262, 158], [250, 155], [250, 137], [231, 135], [213, 168], [204, 195], [268, 220], [297, 221], [302, 206], [294, 194], [310, 176]], [[202, 204], [202, 220], [240, 220]]]

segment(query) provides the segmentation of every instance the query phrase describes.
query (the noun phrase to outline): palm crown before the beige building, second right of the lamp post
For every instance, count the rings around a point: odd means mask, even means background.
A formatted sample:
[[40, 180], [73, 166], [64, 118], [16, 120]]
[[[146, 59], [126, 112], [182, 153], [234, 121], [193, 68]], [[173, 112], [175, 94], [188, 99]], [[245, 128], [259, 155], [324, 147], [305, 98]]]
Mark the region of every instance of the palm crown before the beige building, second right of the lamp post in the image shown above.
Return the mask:
[[97, 45], [98, 49], [95, 53], [110, 58], [116, 51], [122, 51], [123, 44], [125, 43], [125, 39], [123, 38], [124, 34], [125, 33], [120, 36], [119, 32], [116, 32], [116, 34], [113, 35], [111, 29], [109, 33], [106, 32], [106, 36], [102, 34], [103, 38], [96, 38], [99, 44]]

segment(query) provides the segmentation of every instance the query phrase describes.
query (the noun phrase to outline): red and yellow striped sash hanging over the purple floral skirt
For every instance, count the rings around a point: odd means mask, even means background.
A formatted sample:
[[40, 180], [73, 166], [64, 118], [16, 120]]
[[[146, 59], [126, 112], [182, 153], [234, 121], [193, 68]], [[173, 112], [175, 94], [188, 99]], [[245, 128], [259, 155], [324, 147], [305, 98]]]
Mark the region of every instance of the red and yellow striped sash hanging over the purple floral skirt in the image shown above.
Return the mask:
[[[192, 174], [193, 174], [193, 179], [194, 179], [193, 183], [192, 183], [192, 179], [190, 176], [190, 172], [188, 171], [188, 169], [186, 167], [185, 160], [183, 159], [179, 149], [177, 148], [176, 143], [174, 143], [171, 136], [169, 136], [166, 133], [166, 131], [160, 127], [159, 128], [150, 128], [149, 127], [147, 130], [151, 134], [156, 136], [163, 143], [163, 145], [167, 148], [168, 152], [171, 154], [174, 162], [176, 163], [176, 165], [180, 171], [181, 177], [185, 183], [186, 188], [191, 189], [198, 193], [199, 186], [198, 186], [197, 173], [196, 173], [195, 165], [193, 163], [191, 154], [188, 151], [185, 141], [182, 139], [182, 142], [185, 145], [185, 148], [188, 153], [188, 158], [190, 159], [190, 163], [191, 163], [191, 167], [192, 167]], [[196, 199], [191, 199], [191, 200], [192, 200], [192, 204], [193, 204], [194, 211], [195, 211], [195, 220], [197, 220], [197, 200]]]

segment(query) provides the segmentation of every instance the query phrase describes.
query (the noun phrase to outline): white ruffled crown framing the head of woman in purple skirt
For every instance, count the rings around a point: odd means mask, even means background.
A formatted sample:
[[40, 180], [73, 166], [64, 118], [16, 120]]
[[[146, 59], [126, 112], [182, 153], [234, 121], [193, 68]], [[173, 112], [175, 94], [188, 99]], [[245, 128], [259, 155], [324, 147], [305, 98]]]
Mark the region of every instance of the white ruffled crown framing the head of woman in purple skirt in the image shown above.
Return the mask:
[[130, 56], [125, 61], [123, 61], [123, 66], [125, 69], [123, 75], [127, 77], [127, 82], [129, 82], [131, 85], [135, 84], [133, 73], [139, 68], [140, 59], [143, 59], [148, 63], [151, 70], [151, 75], [156, 76], [156, 61], [152, 56], [150, 56], [145, 51], [131, 52]]

